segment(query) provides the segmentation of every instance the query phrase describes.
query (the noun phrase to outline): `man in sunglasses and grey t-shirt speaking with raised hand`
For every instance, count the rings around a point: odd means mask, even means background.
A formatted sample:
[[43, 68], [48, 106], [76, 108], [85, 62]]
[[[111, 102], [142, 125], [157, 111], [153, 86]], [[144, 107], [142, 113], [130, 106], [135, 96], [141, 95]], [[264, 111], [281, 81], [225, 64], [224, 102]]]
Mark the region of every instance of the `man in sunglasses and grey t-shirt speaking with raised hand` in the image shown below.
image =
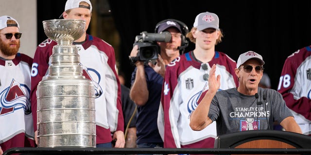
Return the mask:
[[219, 136], [238, 131], [273, 130], [273, 123], [277, 121], [286, 131], [302, 134], [282, 95], [258, 87], [263, 64], [261, 55], [256, 52], [241, 54], [235, 69], [240, 85], [224, 91], [218, 91], [221, 76], [215, 72], [214, 64], [209, 71], [209, 90], [190, 115], [191, 129], [202, 130], [216, 121]]

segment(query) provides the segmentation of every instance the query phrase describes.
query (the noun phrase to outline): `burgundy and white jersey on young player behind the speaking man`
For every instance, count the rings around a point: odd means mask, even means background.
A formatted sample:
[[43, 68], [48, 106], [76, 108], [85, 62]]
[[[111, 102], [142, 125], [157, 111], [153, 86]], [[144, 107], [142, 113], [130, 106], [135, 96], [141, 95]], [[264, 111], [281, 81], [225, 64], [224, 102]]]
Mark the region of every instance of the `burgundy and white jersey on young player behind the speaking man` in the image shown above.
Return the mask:
[[225, 53], [216, 51], [210, 62], [200, 63], [193, 58], [192, 52], [177, 57], [166, 67], [157, 119], [165, 148], [214, 147], [215, 122], [201, 131], [193, 131], [189, 125], [191, 111], [208, 90], [207, 77], [213, 64], [217, 65], [216, 76], [221, 75], [221, 90], [239, 84], [234, 72], [236, 62]]

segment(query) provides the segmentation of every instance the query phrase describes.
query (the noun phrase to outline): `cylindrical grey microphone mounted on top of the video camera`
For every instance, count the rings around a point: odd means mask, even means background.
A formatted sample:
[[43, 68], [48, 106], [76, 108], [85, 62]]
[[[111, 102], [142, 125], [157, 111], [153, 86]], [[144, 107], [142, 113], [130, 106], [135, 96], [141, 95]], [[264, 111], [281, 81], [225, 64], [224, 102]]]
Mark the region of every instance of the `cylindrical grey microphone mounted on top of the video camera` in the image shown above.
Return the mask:
[[162, 33], [147, 33], [143, 31], [140, 33], [142, 40], [144, 41], [156, 41], [156, 42], [171, 42], [172, 34], [168, 31], [163, 31]]

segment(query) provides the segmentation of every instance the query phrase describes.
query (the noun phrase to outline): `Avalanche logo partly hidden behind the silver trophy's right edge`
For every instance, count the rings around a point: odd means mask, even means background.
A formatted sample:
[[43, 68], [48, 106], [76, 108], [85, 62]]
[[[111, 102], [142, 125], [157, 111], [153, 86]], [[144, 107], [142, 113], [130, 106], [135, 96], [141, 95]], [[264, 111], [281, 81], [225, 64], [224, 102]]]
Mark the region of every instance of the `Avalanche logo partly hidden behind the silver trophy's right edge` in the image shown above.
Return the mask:
[[99, 85], [99, 82], [101, 81], [101, 75], [95, 69], [86, 68], [86, 66], [84, 65], [82, 66], [83, 66], [82, 75], [93, 82], [93, 85], [95, 87], [95, 98], [100, 97], [104, 93], [102, 87]]

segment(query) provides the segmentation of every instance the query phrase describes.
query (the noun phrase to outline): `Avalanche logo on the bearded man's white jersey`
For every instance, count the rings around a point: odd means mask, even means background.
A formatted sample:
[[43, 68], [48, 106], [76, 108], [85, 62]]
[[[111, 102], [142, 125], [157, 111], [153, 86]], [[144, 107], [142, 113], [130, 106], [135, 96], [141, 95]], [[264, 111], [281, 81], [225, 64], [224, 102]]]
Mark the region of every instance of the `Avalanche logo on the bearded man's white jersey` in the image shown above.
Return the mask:
[[25, 84], [12, 79], [10, 87], [0, 92], [0, 116], [24, 109], [25, 114], [31, 113], [30, 89]]

